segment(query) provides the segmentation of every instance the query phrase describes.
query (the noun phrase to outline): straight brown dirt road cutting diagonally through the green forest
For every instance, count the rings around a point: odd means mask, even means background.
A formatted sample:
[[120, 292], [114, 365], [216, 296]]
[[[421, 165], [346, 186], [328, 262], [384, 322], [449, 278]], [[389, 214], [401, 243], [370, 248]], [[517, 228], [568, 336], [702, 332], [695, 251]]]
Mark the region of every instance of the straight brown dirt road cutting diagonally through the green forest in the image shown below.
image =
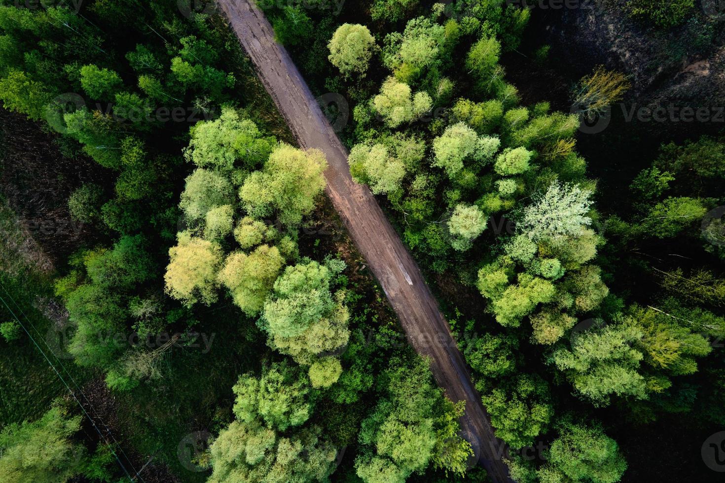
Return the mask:
[[252, 1], [218, 0], [218, 3], [300, 146], [317, 148], [327, 156], [328, 196], [383, 287], [410, 343], [418, 353], [431, 358], [434, 377], [448, 397], [454, 401], [465, 400], [461, 427], [479, 463], [494, 482], [512, 481], [500, 459], [504, 446], [494, 437], [489, 416], [471, 385], [448, 323], [418, 265], [403, 247], [370, 190], [352, 181], [347, 150], [287, 51], [274, 41], [273, 30], [264, 14]]

